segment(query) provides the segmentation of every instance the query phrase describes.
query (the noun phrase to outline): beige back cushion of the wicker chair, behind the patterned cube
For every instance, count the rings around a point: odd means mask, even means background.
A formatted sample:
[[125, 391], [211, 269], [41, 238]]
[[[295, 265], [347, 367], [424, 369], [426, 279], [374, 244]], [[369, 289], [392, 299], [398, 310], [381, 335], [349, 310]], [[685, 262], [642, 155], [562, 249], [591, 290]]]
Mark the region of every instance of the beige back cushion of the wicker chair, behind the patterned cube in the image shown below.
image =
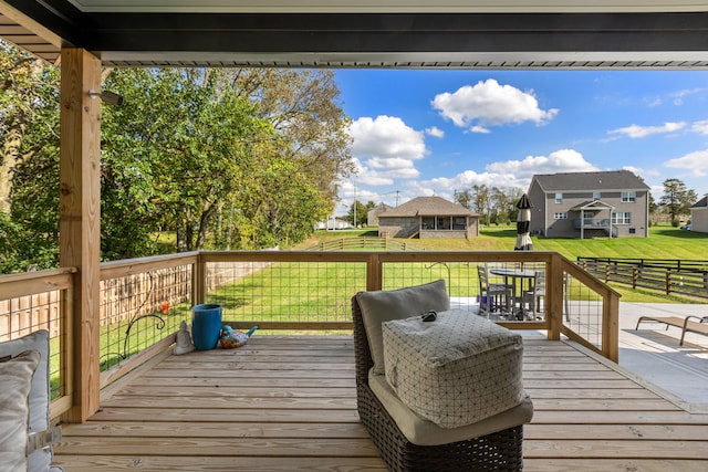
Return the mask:
[[361, 292], [356, 294], [356, 301], [362, 308], [362, 319], [376, 374], [384, 374], [384, 344], [381, 332], [383, 322], [421, 315], [430, 310], [450, 310], [450, 298], [444, 280], [393, 291]]

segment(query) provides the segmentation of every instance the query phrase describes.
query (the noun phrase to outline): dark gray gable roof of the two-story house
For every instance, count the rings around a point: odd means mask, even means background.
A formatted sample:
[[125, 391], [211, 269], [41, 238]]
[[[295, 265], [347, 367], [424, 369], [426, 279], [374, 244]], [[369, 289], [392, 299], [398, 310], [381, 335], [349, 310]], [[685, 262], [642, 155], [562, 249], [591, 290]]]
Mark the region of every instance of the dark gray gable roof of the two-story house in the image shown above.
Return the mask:
[[545, 192], [649, 189], [649, 186], [644, 183], [644, 180], [629, 170], [542, 174], [533, 176], [533, 180]]

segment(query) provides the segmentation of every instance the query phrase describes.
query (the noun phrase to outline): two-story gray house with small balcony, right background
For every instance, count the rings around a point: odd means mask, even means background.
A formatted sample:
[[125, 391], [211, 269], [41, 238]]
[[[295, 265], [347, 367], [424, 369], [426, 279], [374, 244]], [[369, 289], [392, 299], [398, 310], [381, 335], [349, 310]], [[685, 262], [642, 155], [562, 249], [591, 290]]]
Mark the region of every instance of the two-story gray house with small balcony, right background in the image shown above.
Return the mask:
[[528, 191], [532, 234], [646, 238], [649, 187], [628, 170], [535, 175]]

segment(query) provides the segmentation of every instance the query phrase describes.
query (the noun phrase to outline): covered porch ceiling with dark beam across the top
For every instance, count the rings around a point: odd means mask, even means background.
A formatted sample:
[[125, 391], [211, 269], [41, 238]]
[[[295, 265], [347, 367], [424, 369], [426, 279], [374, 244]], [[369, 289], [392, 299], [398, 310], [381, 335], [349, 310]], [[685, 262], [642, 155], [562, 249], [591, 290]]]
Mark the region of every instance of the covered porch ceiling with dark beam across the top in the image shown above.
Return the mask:
[[706, 0], [0, 0], [0, 36], [104, 66], [708, 69]]

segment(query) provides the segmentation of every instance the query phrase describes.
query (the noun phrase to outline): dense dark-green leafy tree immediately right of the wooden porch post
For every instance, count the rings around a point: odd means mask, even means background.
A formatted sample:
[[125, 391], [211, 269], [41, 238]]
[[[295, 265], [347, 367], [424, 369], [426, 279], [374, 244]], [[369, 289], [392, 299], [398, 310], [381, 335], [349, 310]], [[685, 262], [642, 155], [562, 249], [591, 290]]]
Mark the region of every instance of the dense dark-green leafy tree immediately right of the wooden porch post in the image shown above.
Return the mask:
[[[209, 70], [116, 70], [106, 86], [125, 98], [104, 119], [104, 220], [118, 240], [110, 244], [114, 255], [136, 255], [159, 228], [176, 231], [179, 251], [202, 249], [221, 206], [250, 178], [248, 144], [270, 135], [269, 126]], [[122, 231], [135, 228], [142, 241], [121, 248]]]

